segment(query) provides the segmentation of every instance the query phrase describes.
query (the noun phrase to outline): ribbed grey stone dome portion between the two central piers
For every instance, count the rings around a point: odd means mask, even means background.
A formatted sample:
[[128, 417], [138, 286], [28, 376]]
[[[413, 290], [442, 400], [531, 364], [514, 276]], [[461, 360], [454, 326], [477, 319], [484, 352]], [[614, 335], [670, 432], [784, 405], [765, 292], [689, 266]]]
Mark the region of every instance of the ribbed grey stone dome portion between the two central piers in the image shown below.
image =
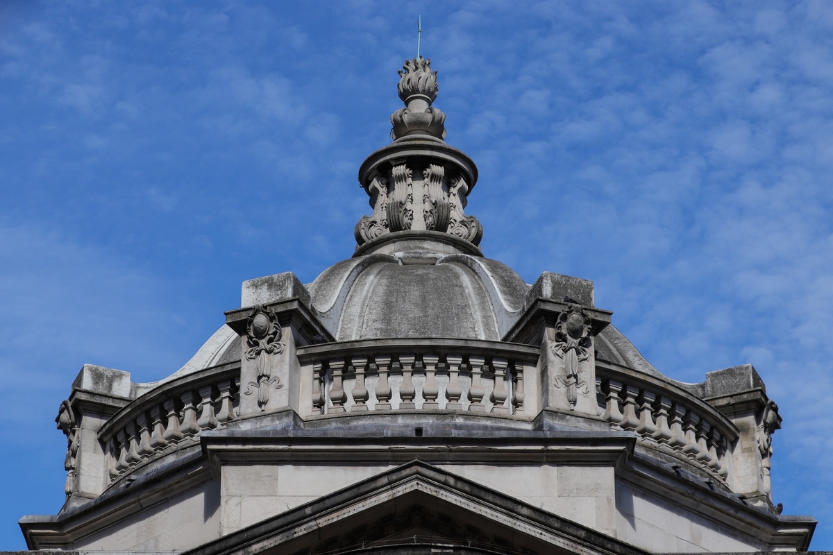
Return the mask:
[[386, 235], [307, 285], [336, 339], [501, 339], [529, 286], [470, 243], [416, 235]]

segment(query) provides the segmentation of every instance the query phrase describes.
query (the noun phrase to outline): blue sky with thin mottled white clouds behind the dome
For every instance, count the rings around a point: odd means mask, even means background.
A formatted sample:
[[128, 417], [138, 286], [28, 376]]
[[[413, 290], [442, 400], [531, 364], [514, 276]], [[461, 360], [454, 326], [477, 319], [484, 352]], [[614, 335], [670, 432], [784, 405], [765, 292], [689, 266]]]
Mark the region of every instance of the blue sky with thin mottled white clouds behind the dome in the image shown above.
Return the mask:
[[833, 549], [833, 6], [695, 0], [2, 2], [0, 549], [62, 504], [82, 364], [160, 379], [352, 254], [418, 14], [486, 255], [594, 280], [672, 378], [755, 364]]

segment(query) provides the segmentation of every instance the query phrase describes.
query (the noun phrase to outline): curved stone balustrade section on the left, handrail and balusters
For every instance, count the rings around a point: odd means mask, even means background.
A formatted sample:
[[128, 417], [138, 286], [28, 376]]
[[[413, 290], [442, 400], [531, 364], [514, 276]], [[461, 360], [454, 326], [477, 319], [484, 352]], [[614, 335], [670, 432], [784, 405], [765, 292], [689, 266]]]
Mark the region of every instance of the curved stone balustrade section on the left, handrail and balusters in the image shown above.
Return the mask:
[[236, 418], [240, 365], [225, 364], [160, 384], [114, 414], [98, 432], [110, 483], [139, 465], [197, 444], [202, 431]]

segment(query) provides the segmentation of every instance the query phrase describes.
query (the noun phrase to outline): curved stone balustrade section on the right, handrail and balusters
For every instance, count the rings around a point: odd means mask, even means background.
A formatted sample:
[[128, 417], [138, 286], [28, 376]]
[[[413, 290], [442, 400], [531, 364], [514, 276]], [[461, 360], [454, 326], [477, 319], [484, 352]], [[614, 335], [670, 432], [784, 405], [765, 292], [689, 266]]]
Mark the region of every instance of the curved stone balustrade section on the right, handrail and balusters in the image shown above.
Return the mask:
[[631, 431], [638, 444], [730, 483], [727, 455], [739, 433], [710, 404], [676, 384], [606, 364], [596, 365], [596, 394], [599, 415], [612, 429]]

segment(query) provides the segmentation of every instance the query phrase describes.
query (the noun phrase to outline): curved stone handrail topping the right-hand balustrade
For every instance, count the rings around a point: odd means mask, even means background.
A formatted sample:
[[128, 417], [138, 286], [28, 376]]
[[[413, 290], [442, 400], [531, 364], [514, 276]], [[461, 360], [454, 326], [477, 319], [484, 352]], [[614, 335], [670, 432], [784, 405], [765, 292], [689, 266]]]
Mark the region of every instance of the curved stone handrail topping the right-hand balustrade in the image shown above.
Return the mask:
[[662, 394], [670, 398], [673, 402], [679, 402], [688, 407], [696, 408], [702, 416], [707, 415], [711, 424], [716, 424], [718, 431], [730, 442], [740, 437], [740, 430], [737, 429], [737, 426], [725, 414], [715, 409], [703, 399], [700, 399], [670, 381], [637, 372], [619, 364], [602, 362], [600, 360], [596, 360], [596, 379], [615, 379], [623, 384], [636, 385], [636, 387], [641, 389], [649, 389], [656, 394]]

